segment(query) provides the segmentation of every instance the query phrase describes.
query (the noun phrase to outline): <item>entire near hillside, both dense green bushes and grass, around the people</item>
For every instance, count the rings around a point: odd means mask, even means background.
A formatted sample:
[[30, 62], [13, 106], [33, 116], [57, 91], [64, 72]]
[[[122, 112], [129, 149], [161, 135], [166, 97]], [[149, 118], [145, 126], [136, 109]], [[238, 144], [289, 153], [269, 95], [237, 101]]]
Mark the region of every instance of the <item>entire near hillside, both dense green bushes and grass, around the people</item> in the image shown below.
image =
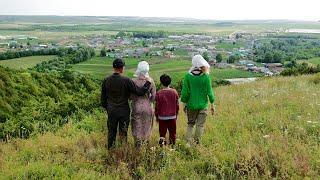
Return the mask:
[[[131, 135], [130, 146], [106, 150], [99, 82], [68, 71], [0, 70], [1, 98], [7, 97], [0, 106], [7, 108], [0, 123], [7, 140], [0, 143], [0, 179], [320, 176], [320, 74], [218, 87], [217, 114], [208, 117], [202, 145], [185, 146], [186, 116], [181, 111], [175, 151], [158, 148], [155, 123], [150, 147], [137, 152], [130, 147]], [[21, 135], [26, 123], [33, 130], [29, 138], [12, 138]]]

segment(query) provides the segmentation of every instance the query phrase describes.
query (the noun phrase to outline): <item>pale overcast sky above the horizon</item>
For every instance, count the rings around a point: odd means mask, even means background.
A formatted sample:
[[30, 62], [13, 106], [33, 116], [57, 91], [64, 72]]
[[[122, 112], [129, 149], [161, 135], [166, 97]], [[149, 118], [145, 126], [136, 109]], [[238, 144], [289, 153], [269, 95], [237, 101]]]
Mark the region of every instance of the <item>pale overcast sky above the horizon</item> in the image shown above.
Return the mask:
[[320, 0], [0, 0], [0, 14], [320, 20]]

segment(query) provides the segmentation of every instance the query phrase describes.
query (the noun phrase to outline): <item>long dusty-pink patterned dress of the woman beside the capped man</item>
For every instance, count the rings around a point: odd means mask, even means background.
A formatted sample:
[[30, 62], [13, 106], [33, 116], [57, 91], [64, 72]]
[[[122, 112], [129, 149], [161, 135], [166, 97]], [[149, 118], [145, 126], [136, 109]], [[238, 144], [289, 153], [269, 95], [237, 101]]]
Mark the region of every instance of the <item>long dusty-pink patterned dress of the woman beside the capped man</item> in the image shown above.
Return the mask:
[[[142, 87], [146, 80], [145, 78], [133, 79], [133, 82]], [[153, 125], [154, 111], [152, 102], [155, 100], [156, 87], [151, 81], [149, 93], [144, 96], [131, 95], [131, 129], [134, 139], [137, 140], [149, 140]]]

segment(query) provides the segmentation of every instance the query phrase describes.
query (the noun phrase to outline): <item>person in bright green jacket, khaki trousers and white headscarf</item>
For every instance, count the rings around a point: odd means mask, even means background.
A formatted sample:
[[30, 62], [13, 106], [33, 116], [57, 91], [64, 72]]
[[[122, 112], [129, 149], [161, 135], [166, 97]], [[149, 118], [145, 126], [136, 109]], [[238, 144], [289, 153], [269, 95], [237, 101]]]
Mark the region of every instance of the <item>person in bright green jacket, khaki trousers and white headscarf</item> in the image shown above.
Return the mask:
[[194, 140], [200, 143], [204, 132], [204, 124], [207, 117], [208, 99], [211, 103], [211, 113], [214, 109], [214, 93], [209, 76], [210, 65], [201, 56], [192, 58], [192, 67], [185, 75], [182, 85], [181, 101], [185, 103], [185, 111], [188, 117], [186, 138], [188, 145], [192, 143], [193, 127], [196, 125]]

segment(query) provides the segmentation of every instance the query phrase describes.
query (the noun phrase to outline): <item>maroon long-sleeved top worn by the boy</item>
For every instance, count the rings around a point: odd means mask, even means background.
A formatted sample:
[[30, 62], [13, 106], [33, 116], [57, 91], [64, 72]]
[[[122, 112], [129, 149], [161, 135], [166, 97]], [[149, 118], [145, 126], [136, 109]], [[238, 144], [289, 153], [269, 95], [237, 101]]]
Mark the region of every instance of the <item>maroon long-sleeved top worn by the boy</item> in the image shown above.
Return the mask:
[[175, 89], [166, 88], [156, 93], [155, 115], [176, 116], [179, 112], [179, 95]]

